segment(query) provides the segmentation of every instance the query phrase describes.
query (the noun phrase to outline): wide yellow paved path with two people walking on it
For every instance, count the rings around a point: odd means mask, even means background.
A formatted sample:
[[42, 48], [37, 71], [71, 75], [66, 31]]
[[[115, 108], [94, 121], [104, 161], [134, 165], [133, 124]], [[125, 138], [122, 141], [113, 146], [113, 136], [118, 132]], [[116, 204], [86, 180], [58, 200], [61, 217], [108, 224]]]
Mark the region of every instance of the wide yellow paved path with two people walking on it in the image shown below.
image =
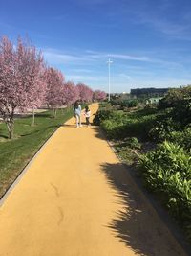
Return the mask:
[[185, 255], [99, 129], [74, 118], [2, 203], [0, 232], [0, 256]]

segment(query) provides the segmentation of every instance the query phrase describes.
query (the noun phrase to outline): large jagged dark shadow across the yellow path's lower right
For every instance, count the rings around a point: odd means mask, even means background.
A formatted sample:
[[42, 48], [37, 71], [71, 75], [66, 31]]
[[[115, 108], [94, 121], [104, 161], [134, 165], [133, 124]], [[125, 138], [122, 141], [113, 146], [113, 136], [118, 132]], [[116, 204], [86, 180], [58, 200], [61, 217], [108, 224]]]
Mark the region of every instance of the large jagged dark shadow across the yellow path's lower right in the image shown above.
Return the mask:
[[169, 236], [163, 221], [143, 197], [127, 168], [120, 163], [106, 163], [101, 169], [115, 189], [118, 203], [124, 205], [124, 210], [119, 211], [117, 218], [108, 225], [114, 235], [138, 255], [186, 255]]

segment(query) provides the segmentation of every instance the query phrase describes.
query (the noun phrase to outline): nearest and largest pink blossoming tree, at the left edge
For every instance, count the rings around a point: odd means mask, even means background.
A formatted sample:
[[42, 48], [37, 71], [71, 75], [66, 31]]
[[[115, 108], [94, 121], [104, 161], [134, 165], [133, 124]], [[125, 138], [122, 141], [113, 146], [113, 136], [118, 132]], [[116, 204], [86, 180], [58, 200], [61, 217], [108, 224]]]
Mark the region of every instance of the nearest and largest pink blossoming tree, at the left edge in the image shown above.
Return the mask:
[[7, 37], [1, 39], [0, 114], [8, 127], [9, 138], [13, 137], [15, 109], [24, 110], [35, 103], [33, 92], [36, 84], [41, 83], [39, 70], [42, 63], [43, 58], [35, 47], [18, 39], [14, 48]]

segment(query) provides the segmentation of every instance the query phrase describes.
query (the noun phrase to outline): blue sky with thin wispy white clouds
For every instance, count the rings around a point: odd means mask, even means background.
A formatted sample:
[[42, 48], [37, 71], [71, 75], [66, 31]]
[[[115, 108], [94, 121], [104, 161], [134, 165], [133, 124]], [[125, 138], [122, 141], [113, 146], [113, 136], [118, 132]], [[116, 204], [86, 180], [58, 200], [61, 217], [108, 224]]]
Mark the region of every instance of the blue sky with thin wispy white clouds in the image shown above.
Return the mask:
[[0, 36], [28, 36], [66, 80], [111, 91], [191, 83], [188, 0], [0, 0]]

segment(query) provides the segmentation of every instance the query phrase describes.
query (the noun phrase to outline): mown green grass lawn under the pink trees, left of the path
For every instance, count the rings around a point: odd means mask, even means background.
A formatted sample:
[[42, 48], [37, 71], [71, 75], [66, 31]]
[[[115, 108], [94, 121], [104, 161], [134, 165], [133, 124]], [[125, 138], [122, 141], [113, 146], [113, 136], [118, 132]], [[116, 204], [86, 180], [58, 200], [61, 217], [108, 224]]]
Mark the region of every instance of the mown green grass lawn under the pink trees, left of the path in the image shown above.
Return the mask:
[[51, 111], [46, 111], [36, 114], [34, 127], [32, 117], [16, 119], [12, 140], [8, 139], [6, 125], [0, 124], [0, 198], [53, 131], [72, 116], [71, 109], [58, 110], [55, 119]]

